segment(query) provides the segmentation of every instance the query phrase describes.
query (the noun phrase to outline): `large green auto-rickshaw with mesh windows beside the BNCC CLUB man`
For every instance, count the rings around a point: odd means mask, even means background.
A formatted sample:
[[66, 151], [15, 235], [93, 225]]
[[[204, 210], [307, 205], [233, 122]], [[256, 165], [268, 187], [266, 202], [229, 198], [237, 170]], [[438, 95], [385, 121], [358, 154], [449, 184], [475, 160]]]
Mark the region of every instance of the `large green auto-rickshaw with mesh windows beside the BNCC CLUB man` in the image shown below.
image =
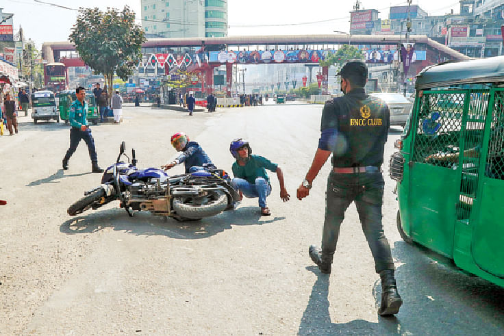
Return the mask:
[[504, 287], [504, 57], [419, 73], [395, 146], [403, 240]]

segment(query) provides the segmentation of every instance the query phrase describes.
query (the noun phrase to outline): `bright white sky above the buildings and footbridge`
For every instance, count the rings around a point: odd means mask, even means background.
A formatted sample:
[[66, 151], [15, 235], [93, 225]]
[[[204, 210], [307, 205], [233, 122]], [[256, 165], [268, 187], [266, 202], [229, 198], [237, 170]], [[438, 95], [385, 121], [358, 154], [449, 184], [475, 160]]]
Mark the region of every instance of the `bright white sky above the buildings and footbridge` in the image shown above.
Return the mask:
[[[107, 7], [123, 8], [129, 5], [140, 18], [140, 0], [41, 0], [70, 8]], [[354, 0], [228, 0], [229, 35], [284, 35], [284, 34], [331, 34], [333, 30], [349, 31], [349, 12], [353, 10]], [[459, 12], [459, 1], [449, 0], [414, 0], [413, 5], [430, 15], [446, 14], [453, 8]], [[407, 5], [406, 1], [371, 1], [362, 0], [361, 9], [379, 10], [380, 18], [388, 17], [390, 5]], [[75, 23], [77, 12], [37, 3], [34, 0], [0, 0], [3, 12], [14, 13], [14, 33], [19, 25], [25, 31], [25, 37], [31, 38], [40, 48], [42, 42], [64, 41], [68, 39], [70, 29]], [[313, 21], [327, 21], [311, 23]], [[138, 21], [140, 23], [140, 21]], [[292, 23], [310, 23], [258, 27], [259, 25], [282, 25]], [[244, 25], [255, 27], [240, 27]]]

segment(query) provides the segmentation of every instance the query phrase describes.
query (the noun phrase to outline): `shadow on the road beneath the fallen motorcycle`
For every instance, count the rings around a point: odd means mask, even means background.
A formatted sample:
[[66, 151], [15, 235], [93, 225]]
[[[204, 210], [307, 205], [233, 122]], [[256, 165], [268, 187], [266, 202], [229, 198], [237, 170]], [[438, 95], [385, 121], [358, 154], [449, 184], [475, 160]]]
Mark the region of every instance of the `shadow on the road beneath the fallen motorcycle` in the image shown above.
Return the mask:
[[262, 225], [283, 220], [285, 217], [260, 216], [258, 207], [240, 207], [225, 211], [218, 216], [190, 222], [178, 222], [173, 218], [153, 216], [148, 212], [135, 213], [129, 217], [124, 209], [97, 210], [73, 217], [60, 226], [66, 234], [93, 233], [114, 229], [134, 235], [164, 235], [176, 239], [200, 239], [239, 225]]

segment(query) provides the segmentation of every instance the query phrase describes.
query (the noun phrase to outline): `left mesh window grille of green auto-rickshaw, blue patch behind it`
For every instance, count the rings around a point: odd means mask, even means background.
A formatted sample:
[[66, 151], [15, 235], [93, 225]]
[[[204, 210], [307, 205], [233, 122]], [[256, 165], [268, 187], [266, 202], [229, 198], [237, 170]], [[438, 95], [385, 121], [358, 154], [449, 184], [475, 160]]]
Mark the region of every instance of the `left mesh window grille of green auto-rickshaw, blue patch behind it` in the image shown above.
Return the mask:
[[435, 92], [420, 97], [413, 161], [451, 167], [459, 148], [464, 92]]

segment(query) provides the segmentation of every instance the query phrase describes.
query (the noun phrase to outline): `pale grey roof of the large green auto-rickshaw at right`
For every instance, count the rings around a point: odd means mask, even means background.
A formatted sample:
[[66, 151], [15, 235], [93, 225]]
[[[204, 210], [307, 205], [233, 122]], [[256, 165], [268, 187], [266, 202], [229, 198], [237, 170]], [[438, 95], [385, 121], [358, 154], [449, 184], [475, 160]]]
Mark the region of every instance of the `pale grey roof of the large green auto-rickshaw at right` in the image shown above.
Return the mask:
[[504, 81], [504, 56], [428, 66], [416, 76], [416, 88], [494, 81]]

